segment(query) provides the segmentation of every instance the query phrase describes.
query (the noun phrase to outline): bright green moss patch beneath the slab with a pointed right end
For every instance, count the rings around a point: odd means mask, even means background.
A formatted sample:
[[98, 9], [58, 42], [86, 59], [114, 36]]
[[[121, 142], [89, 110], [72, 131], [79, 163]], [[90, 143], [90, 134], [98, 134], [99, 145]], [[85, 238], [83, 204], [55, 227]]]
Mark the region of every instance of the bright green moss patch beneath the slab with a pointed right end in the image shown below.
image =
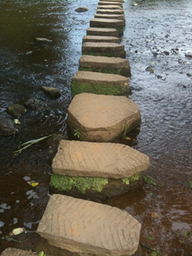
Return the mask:
[[101, 192], [104, 185], [108, 184], [107, 178], [100, 177], [80, 177], [66, 176], [52, 173], [50, 185], [57, 188], [58, 191], [70, 191], [77, 188], [81, 194], [86, 194], [86, 189], [92, 188]]

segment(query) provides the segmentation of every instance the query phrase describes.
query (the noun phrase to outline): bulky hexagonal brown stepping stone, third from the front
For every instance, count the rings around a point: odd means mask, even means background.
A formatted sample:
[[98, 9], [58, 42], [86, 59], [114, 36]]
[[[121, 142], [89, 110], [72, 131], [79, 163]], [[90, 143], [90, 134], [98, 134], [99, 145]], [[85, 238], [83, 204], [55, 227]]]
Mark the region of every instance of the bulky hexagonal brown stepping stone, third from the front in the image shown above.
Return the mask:
[[67, 122], [71, 131], [79, 129], [83, 141], [110, 142], [139, 125], [141, 115], [125, 96], [81, 93], [68, 107]]

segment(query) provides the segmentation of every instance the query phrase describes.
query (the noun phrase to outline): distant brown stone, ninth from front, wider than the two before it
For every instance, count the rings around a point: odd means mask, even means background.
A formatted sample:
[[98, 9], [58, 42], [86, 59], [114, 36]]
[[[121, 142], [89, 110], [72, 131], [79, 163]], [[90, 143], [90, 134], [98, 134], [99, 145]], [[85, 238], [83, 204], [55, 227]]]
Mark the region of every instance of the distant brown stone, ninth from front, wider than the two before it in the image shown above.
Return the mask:
[[90, 27], [103, 26], [103, 27], [117, 27], [124, 26], [124, 20], [113, 20], [113, 19], [96, 19], [90, 20]]

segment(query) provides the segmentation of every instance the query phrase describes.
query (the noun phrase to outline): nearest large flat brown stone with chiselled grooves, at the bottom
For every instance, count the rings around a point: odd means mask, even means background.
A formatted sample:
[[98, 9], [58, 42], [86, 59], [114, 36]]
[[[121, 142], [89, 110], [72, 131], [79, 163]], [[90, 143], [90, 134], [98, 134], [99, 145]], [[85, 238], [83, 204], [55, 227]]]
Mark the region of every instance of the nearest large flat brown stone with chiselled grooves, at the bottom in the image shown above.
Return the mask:
[[139, 222], [121, 209], [53, 194], [37, 233], [69, 251], [120, 256], [136, 252], [140, 229]]

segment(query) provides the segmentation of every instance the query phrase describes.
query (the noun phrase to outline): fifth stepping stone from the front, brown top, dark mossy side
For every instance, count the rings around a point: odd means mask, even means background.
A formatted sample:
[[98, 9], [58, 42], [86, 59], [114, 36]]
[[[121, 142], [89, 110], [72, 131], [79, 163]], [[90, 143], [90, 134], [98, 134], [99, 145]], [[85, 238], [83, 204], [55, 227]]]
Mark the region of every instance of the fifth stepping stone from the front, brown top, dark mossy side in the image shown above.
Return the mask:
[[79, 63], [79, 71], [120, 74], [130, 77], [130, 64], [127, 59], [83, 55]]

